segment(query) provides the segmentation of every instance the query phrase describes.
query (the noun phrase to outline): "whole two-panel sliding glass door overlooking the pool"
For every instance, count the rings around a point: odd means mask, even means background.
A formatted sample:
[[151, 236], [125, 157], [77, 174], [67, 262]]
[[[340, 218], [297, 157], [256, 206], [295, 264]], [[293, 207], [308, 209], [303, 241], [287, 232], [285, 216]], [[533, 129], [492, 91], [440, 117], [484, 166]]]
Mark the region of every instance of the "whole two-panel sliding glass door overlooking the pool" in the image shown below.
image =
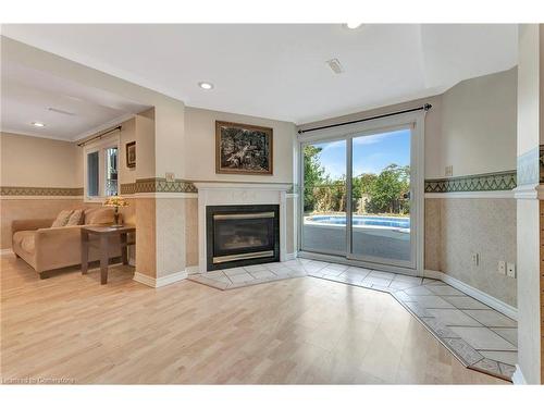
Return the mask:
[[416, 268], [412, 128], [301, 145], [305, 251]]

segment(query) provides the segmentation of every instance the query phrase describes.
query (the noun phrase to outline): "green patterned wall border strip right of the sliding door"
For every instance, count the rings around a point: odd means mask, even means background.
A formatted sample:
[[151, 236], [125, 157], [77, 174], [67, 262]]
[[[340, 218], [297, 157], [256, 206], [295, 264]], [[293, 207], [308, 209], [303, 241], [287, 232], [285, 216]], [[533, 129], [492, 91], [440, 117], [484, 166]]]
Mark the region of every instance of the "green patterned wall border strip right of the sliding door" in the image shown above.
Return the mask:
[[516, 188], [516, 170], [425, 180], [425, 193], [497, 191]]

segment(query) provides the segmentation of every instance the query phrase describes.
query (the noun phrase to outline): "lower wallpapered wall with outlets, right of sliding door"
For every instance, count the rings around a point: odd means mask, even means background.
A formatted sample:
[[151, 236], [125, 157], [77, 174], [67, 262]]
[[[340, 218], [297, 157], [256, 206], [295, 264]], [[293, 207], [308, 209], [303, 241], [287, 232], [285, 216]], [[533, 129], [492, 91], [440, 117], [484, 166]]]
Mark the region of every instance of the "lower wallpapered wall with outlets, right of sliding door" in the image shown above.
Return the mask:
[[[516, 262], [514, 198], [425, 199], [425, 269], [442, 271], [512, 307], [517, 282], [497, 272]], [[474, 265], [471, 256], [480, 255]]]

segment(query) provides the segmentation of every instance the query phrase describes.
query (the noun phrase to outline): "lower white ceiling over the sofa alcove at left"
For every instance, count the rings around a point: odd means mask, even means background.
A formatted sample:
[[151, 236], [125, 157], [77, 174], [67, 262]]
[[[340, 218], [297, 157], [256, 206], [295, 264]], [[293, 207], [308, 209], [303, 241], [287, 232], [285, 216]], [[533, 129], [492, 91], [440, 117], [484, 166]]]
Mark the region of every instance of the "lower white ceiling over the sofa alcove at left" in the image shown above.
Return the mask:
[[[1, 84], [2, 132], [77, 140], [146, 109], [9, 61], [2, 61]], [[46, 126], [35, 127], [32, 122]]]

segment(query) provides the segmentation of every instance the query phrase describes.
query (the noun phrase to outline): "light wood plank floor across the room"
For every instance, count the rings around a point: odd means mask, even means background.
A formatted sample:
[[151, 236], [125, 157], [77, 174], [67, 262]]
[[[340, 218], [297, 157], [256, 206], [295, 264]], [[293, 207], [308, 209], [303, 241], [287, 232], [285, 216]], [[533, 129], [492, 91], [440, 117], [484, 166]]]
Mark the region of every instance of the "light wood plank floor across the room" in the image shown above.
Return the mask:
[[2, 381], [507, 384], [462, 367], [387, 294], [314, 277], [153, 289], [132, 273], [40, 281], [1, 257]]

